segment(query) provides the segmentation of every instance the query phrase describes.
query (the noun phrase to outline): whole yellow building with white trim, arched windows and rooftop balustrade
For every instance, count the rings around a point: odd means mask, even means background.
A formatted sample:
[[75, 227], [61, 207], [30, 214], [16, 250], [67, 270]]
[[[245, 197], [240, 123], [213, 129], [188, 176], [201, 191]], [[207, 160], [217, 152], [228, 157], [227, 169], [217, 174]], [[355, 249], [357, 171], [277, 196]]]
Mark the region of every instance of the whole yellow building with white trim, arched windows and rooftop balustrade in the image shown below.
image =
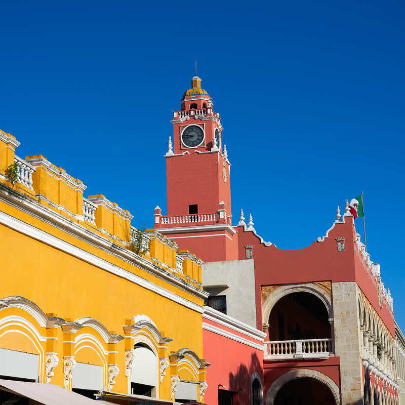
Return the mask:
[[18, 146], [0, 131], [0, 378], [204, 402], [202, 262]]

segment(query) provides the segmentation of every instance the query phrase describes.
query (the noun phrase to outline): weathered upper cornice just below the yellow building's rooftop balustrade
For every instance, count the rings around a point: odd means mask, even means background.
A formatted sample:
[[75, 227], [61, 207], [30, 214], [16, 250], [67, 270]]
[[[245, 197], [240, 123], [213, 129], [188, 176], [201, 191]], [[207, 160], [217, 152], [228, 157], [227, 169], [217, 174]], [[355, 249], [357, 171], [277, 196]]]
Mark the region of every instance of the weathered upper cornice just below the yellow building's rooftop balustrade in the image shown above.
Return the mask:
[[[21, 196], [21, 194], [19, 194], [15, 190], [12, 190], [9, 187], [4, 186], [3, 184], [0, 184], [0, 191], [3, 191], [0, 192], [0, 200], [3, 200], [6, 204], [9, 204], [49, 225], [55, 226], [63, 232], [77, 237], [80, 240], [83, 240], [84, 242], [90, 244], [91, 246], [101, 249], [102, 251], [114, 257], [117, 257], [120, 260], [124, 260], [131, 265], [136, 265], [142, 270], [160, 278], [161, 280], [169, 282], [169, 284], [174, 285], [182, 291], [195, 295], [201, 299], [206, 298], [206, 292], [189, 284], [187, 281], [183, 280], [179, 276], [172, 274], [166, 270], [160, 269], [157, 265], [151, 263], [147, 259], [136, 256], [128, 249], [121, 248], [105, 237], [92, 232], [90, 229], [87, 229], [86, 227], [69, 220], [65, 216], [58, 214], [45, 206], [35, 203], [25, 196]], [[67, 244], [67, 242], [65, 243]], [[72, 246], [70, 244], [67, 245]], [[192, 305], [196, 304], [192, 303]], [[198, 312], [202, 312], [202, 308], [198, 305], [197, 307], [200, 308]]]

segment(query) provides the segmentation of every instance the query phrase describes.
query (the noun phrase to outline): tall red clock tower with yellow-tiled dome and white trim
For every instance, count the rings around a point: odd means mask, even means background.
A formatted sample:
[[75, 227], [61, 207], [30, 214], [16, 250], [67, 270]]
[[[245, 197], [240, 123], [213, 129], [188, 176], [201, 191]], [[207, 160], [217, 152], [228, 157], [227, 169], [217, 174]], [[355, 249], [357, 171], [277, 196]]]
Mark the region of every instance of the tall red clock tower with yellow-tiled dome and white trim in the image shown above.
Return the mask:
[[165, 154], [167, 216], [156, 207], [154, 227], [204, 261], [237, 259], [223, 127], [198, 76], [180, 106]]

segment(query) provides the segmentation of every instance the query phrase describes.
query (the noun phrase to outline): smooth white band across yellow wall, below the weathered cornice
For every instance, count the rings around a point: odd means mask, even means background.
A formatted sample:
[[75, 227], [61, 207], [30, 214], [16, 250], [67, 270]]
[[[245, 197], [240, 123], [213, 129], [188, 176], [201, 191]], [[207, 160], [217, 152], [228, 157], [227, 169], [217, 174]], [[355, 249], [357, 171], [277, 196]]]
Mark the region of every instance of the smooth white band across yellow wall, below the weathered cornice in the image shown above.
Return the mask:
[[[47, 245], [57, 248], [65, 253], [75, 256], [75, 257], [77, 257], [81, 260], [84, 260], [90, 264], [93, 264], [97, 267], [100, 267], [101, 269], [106, 270], [112, 274], [115, 274], [119, 277], [123, 277], [129, 281], [132, 281], [135, 284], [137, 284], [147, 290], [153, 291], [154, 293], [156, 293], [158, 295], [168, 298], [178, 304], [184, 305], [185, 307], [190, 308], [196, 312], [199, 312], [199, 313], [203, 312], [203, 307], [201, 307], [197, 304], [194, 304], [193, 302], [191, 302], [183, 297], [180, 297], [179, 295], [174, 294], [171, 291], [168, 291], [162, 287], [159, 287], [156, 284], [154, 284], [153, 282], [145, 280], [144, 278], [137, 276], [128, 270], [125, 270], [110, 262], [107, 262], [104, 259], [101, 259], [89, 252], [86, 252], [83, 249], [77, 248], [76, 246], [73, 246], [64, 240], [59, 239], [56, 236], [53, 236], [41, 229], [35, 228], [34, 226], [29, 225], [29, 224], [27, 224], [17, 218], [14, 218], [4, 212], [1, 212], [1, 211], [0, 211], [0, 223], [4, 224], [12, 229], [15, 229], [21, 233], [24, 233], [30, 237], [33, 237], [39, 241], [42, 241], [42, 242], [46, 243]], [[122, 252], [122, 253], [124, 254], [126, 252]], [[128, 252], [128, 253], [130, 253], [130, 252]], [[134, 261], [137, 263], [136, 260], [133, 260], [132, 263], [134, 263]], [[144, 260], [144, 263], [142, 263], [142, 264], [143, 264], [143, 266], [141, 268], [143, 268], [145, 266], [148, 266], [150, 269], [153, 268], [153, 265], [150, 262], [148, 262], [147, 260]], [[183, 284], [185, 284], [184, 281], [183, 281]], [[193, 288], [193, 290], [198, 290], [198, 292], [200, 293], [198, 296], [201, 296], [201, 297], [206, 296], [206, 293], [204, 293], [203, 290], [199, 290], [197, 288]], [[190, 292], [190, 291], [188, 291], [188, 292]]]

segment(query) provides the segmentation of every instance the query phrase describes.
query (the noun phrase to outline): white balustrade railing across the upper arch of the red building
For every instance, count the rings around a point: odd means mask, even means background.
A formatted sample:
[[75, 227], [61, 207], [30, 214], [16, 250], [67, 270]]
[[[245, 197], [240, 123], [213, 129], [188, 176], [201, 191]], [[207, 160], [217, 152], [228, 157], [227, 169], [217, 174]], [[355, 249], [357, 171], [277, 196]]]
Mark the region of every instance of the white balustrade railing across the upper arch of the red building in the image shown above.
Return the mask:
[[328, 357], [332, 339], [296, 339], [264, 342], [264, 358], [269, 360]]

